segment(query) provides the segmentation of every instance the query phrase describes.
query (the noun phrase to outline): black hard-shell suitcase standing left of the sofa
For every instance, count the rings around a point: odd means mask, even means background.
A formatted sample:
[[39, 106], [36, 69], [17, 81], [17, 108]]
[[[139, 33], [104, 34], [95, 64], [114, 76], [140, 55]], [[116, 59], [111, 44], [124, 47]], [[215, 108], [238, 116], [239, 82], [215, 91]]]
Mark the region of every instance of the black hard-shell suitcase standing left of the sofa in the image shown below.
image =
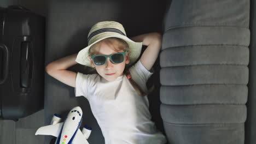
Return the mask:
[[0, 7], [1, 119], [44, 106], [45, 18], [18, 6]]

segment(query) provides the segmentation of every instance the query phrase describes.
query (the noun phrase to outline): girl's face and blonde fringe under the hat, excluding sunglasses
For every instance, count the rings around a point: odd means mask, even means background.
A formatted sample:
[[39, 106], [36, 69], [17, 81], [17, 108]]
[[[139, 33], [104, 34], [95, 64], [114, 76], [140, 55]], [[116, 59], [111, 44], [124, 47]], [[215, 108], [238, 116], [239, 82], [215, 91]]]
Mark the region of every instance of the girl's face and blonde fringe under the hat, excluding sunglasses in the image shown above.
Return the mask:
[[[94, 55], [111, 55], [117, 52], [124, 52], [124, 50], [118, 50], [118, 45], [120, 45], [120, 43], [118, 43], [117, 40], [114, 40], [113, 44], [104, 43], [104, 41], [102, 41], [102, 43], [95, 47]], [[109, 57], [107, 58], [107, 62], [103, 65], [95, 65], [91, 59], [92, 68], [95, 68], [97, 73], [107, 81], [114, 81], [117, 77], [122, 76], [125, 64], [129, 64], [129, 62], [129, 53], [125, 55], [124, 62], [118, 64], [112, 63]]]

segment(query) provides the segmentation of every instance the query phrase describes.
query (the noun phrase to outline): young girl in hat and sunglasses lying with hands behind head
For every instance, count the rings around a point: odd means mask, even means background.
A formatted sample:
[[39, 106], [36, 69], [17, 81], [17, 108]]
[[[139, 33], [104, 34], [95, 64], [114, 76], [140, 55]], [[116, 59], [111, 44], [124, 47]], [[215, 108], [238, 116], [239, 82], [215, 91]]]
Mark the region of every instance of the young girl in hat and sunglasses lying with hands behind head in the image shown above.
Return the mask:
[[[148, 47], [135, 63], [142, 44]], [[166, 138], [151, 121], [146, 86], [160, 47], [159, 33], [129, 39], [120, 23], [98, 22], [88, 34], [87, 47], [78, 55], [51, 62], [46, 72], [75, 87], [75, 96], [88, 99], [106, 144], [162, 144]], [[97, 74], [66, 70], [77, 63], [95, 68]]]

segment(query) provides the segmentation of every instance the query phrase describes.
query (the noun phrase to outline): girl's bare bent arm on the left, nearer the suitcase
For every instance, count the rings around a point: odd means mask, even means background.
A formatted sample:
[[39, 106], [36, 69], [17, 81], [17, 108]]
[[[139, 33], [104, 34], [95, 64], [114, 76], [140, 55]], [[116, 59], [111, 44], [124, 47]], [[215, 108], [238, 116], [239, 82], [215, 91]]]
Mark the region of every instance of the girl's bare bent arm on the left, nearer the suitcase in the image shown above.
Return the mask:
[[77, 73], [66, 69], [77, 64], [77, 62], [75, 62], [77, 54], [78, 53], [75, 53], [74, 55], [63, 57], [49, 63], [45, 68], [46, 73], [68, 86], [75, 87], [75, 77]]

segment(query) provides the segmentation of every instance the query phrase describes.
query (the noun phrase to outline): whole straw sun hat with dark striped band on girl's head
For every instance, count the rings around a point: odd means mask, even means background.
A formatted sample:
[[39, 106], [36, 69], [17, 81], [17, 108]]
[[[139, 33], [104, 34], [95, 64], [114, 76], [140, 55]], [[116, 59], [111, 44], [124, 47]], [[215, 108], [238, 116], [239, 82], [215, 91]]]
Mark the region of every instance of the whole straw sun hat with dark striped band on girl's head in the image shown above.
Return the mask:
[[91, 67], [88, 51], [98, 41], [110, 37], [120, 38], [126, 41], [130, 49], [130, 64], [134, 63], [141, 54], [142, 42], [137, 43], [126, 37], [123, 25], [115, 21], [102, 21], [91, 27], [88, 34], [88, 46], [79, 51], [76, 62]]

